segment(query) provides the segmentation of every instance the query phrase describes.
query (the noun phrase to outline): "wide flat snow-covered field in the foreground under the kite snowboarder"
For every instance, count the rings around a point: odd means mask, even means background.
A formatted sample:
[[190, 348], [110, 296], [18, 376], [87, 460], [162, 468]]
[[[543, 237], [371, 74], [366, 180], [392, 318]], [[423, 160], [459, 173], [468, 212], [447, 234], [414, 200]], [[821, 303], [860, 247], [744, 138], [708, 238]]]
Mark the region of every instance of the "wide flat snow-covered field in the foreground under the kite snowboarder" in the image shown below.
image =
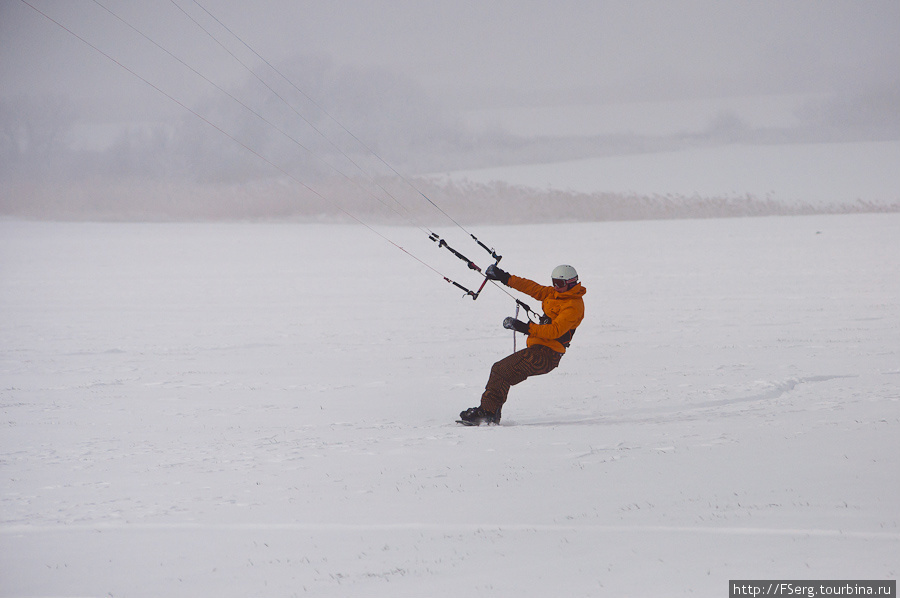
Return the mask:
[[898, 577], [900, 215], [474, 232], [588, 289], [499, 427], [512, 300], [363, 227], [0, 222], [0, 596]]

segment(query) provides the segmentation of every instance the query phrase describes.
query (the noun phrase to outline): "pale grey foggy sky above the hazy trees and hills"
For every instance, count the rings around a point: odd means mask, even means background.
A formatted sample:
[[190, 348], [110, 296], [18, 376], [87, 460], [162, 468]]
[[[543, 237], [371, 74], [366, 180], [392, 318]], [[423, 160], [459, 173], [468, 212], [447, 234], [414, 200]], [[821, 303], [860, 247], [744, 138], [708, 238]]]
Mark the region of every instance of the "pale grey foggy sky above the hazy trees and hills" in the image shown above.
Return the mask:
[[[94, 2], [32, 2], [148, 77], [171, 76], [171, 61]], [[208, 57], [200, 68], [218, 80], [240, 76], [171, 1], [101, 3], [172, 51]], [[201, 4], [273, 61], [314, 55], [379, 68], [454, 107], [855, 93], [896, 86], [900, 73], [897, 0]], [[3, 96], [113, 98], [120, 109], [166, 103], [18, 0], [0, 3], [0, 58]], [[190, 93], [196, 82], [179, 77], [166, 85]]]

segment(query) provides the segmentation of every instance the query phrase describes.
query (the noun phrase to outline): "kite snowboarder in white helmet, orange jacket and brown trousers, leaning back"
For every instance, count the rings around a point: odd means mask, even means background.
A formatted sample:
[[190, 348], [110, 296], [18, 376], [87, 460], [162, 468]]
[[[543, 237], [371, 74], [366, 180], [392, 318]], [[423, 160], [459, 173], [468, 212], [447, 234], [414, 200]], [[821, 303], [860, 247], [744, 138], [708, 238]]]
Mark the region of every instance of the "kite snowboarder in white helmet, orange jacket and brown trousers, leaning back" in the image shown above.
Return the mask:
[[481, 405], [459, 414], [460, 423], [470, 426], [499, 424], [500, 410], [506, 402], [509, 387], [529, 376], [546, 374], [559, 365], [572, 341], [575, 329], [584, 319], [585, 288], [578, 282], [572, 266], [557, 266], [551, 273], [552, 287], [507, 274], [495, 265], [488, 266], [485, 276], [508, 287], [539, 299], [544, 315], [540, 323], [503, 320], [503, 327], [528, 335], [526, 347], [494, 364], [481, 395]]

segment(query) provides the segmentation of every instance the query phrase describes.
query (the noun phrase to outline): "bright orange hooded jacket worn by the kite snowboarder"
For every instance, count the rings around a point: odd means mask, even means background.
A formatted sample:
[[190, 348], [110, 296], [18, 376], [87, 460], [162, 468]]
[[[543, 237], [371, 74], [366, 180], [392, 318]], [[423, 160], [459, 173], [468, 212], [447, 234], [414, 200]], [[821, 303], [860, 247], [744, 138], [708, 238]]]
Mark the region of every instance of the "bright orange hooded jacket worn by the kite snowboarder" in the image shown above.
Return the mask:
[[549, 324], [528, 325], [527, 346], [546, 345], [557, 353], [565, 353], [575, 329], [584, 319], [584, 294], [587, 290], [580, 284], [564, 293], [553, 287], [541, 286], [533, 280], [519, 276], [509, 277], [509, 286], [541, 301], [544, 314], [550, 318]]

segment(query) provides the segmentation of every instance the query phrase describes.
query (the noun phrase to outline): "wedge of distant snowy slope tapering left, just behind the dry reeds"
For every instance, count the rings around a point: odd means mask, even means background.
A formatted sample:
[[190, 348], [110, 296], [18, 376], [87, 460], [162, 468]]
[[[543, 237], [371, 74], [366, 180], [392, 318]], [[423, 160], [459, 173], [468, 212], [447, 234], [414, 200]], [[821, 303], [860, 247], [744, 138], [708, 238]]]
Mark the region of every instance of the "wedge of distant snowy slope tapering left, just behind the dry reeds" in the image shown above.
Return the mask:
[[900, 141], [733, 144], [465, 170], [437, 180], [503, 181], [579, 193], [744, 197], [813, 206], [900, 203]]

